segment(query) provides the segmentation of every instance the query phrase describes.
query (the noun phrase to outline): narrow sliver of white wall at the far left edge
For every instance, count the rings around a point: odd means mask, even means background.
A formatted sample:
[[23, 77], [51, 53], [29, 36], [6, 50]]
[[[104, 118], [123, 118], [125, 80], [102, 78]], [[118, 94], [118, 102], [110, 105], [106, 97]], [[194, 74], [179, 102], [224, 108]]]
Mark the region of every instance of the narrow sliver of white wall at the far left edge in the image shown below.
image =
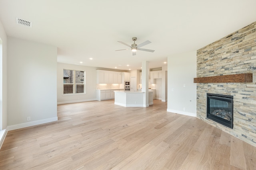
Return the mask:
[[[0, 64], [0, 131], [7, 128], [7, 35], [0, 21], [0, 39], [2, 41], [2, 55]], [[0, 137], [1, 139], [1, 137]]]

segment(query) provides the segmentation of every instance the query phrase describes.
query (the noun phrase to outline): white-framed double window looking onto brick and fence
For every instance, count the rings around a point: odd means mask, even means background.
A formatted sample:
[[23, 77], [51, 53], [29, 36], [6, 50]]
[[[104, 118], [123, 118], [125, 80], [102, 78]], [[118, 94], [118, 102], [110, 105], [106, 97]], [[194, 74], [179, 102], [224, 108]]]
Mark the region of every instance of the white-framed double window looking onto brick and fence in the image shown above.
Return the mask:
[[85, 71], [63, 70], [63, 94], [85, 93]]

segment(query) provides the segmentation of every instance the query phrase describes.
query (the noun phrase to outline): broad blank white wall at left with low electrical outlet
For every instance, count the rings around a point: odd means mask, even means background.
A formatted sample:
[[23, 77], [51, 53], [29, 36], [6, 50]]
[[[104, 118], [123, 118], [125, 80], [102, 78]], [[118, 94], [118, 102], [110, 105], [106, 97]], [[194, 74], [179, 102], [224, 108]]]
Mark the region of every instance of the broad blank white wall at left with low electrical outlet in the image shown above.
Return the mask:
[[8, 37], [7, 49], [8, 129], [56, 121], [57, 47]]

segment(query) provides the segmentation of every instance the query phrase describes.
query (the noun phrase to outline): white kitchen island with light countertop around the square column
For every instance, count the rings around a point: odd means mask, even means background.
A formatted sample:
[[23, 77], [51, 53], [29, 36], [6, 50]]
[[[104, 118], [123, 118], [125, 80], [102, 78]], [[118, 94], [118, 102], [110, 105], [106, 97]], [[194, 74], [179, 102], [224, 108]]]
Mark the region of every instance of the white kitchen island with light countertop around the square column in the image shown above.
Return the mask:
[[[115, 90], [115, 104], [124, 107], [147, 107], [143, 104], [146, 92]], [[153, 91], [148, 91], [148, 105], [153, 104]]]

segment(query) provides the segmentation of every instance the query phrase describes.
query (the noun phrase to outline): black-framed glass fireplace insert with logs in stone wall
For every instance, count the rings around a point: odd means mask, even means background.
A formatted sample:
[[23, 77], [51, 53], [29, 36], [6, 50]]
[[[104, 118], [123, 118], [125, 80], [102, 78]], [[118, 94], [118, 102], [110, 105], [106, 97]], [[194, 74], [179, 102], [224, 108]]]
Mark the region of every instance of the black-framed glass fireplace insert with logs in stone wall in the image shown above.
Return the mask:
[[233, 96], [207, 93], [206, 117], [233, 129]]

